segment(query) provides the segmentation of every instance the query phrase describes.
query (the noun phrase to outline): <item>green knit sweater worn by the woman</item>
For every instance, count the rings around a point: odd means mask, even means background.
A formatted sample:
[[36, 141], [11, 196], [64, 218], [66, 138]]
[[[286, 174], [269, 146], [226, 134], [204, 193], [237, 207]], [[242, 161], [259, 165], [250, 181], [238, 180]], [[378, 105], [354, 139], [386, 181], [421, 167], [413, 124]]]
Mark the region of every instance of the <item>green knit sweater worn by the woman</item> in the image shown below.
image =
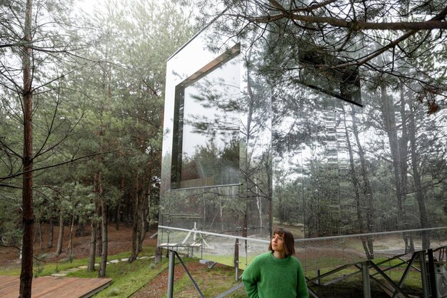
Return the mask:
[[296, 257], [278, 259], [271, 252], [258, 255], [243, 271], [250, 298], [308, 298], [303, 267]]

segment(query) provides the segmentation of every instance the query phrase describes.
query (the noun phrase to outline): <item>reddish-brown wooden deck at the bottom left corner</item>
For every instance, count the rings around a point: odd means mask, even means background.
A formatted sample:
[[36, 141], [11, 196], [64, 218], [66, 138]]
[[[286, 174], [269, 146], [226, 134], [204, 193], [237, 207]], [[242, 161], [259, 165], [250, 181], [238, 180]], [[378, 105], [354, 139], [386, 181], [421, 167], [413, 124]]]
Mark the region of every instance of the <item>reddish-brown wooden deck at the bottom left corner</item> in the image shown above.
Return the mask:
[[[110, 278], [79, 277], [35, 277], [32, 297], [91, 297], [105, 287], [109, 287]], [[19, 277], [0, 276], [0, 297], [19, 297]]]

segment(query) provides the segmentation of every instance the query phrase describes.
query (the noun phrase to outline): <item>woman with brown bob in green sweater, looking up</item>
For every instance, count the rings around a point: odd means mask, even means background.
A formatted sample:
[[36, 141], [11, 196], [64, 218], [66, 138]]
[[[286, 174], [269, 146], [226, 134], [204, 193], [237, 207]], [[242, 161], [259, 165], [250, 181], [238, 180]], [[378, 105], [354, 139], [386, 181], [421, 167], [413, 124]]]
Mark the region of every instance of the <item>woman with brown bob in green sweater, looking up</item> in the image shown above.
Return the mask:
[[293, 235], [278, 228], [273, 232], [269, 252], [255, 257], [243, 271], [248, 297], [309, 297], [303, 267], [295, 255]]

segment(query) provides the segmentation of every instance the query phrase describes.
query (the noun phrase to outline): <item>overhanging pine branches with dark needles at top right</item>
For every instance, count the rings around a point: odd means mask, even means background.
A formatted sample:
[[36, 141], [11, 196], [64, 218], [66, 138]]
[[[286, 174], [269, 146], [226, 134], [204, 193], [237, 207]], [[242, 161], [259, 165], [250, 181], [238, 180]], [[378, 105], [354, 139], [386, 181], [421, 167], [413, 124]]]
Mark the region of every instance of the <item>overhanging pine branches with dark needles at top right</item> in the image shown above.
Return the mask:
[[443, 1], [187, 2], [203, 11], [202, 22], [221, 16], [216, 27], [228, 36], [263, 40], [270, 62], [265, 70], [282, 78], [296, 77], [303, 67], [322, 76], [357, 70], [363, 81], [376, 86], [405, 84], [427, 104], [428, 113], [446, 105]]

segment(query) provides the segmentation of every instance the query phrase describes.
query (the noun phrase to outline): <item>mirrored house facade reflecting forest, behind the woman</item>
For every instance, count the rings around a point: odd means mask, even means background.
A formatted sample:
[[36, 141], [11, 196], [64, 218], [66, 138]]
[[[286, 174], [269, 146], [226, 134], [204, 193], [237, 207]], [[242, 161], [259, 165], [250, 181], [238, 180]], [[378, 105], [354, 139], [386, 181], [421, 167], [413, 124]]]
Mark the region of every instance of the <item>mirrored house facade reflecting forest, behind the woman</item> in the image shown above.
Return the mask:
[[357, 70], [266, 72], [261, 41], [219, 36], [167, 63], [160, 247], [243, 269], [285, 227], [314, 270], [447, 245], [444, 111]]

